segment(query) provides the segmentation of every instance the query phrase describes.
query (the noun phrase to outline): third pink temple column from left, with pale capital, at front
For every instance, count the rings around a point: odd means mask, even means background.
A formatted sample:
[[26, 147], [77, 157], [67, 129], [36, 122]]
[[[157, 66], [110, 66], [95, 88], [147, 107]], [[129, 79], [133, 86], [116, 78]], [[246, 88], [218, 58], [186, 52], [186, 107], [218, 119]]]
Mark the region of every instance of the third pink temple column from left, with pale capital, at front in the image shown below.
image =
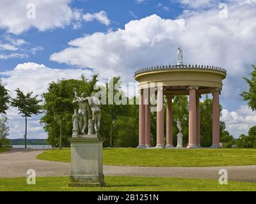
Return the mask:
[[163, 148], [164, 147], [163, 87], [157, 87], [156, 140], [157, 140], [156, 147]]

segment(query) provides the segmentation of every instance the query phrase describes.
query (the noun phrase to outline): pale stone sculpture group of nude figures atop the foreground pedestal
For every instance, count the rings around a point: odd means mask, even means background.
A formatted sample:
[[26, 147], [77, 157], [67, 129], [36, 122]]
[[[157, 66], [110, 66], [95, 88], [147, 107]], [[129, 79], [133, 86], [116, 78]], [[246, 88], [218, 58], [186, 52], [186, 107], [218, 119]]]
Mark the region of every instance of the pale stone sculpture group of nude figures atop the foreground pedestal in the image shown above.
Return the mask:
[[90, 97], [86, 97], [85, 93], [81, 94], [81, 97], [77, 96], [75, 92], [75, 98], [73, 103], [79, 104], [78, 112], [74, 111], [72, 117], [73, 121], [73, 134], [72, 136], [85, 135], [86, 127], [88, 126], [87, 135], [97, 135], [100, 129], [100, 100], [92, 94]]

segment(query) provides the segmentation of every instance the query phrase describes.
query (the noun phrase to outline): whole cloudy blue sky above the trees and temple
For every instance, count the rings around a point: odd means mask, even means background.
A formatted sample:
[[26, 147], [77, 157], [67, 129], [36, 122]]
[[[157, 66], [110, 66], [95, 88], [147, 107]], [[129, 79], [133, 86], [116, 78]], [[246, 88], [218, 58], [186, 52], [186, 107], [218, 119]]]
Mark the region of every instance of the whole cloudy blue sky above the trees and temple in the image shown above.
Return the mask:
[[[29, 3], [35, 19], [26, 16]], [[239, 96], [247, 88], [242, 77], [256, 62], [255, 12], [255, 0], [3, 0], [0, 77], [11, 94], [16, 87], [42, 94], [52, 80], [81, 73], [134, 82], [140, 67], [175, 64], [182, 47], [186, 64], [227, 69], [222, 119], [239, 136], [256, 122]], [[8, 117], [10, 138], [22, 137], [22, 118], [13, 109]], [[30, 119], [33, 138], [46, 136], [39, 119]]]

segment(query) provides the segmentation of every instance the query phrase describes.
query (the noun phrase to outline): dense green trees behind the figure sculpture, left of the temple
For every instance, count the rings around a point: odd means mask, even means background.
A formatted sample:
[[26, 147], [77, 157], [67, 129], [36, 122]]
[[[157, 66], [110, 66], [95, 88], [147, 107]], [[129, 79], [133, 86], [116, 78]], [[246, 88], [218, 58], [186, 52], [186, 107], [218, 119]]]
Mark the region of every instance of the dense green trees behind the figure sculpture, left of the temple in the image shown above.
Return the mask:
[[[47, 92], [42, 94], [44, 101], [44, 117], [41, 122], [44, 130], [48, 133], [47, 142], [52, 147], [69, 147], [68, 138], [72, 135], [72, 115], [74, 109], [78, 109], [77, 104], [72, 104], [74, 92], [80, 96], [82, 92], [86, 96], [91, 96], [95, 91], [94, 87], [98, 82], [98, 75], [93, 75], [89, 80], [83, 75], [81, 80], [62, 79], [51, 82]], [[125, 98], [124, 92], [120, 87], [120, 77], [115, 77], [111, 82], [115, 86], [114, 95], [120, 94]], [[108, 96], [108, 83], [106, 83], [106, 94]], [[128, 98], [125, 98], [127, 101]], [[107, 98], [108, 102], [108, 98]], [[101, 107], [100, 135], [105, 138], [105, 147], [125, 146], [127, 140], [129, 147], [135, 147], [138, 143], [138, 105], [102, 105]], [[122, 126], [122, 121], [125, 125]], [[129, 126], [129, 129], [126, 127]], [[126, 130], [125, 130], [126, 129]], [[126, 136], [122, 135], [125, 132]], [[126, 136], [126, 137], [125, 137]], [[126, 143], [125, 143], [126, 144]]]

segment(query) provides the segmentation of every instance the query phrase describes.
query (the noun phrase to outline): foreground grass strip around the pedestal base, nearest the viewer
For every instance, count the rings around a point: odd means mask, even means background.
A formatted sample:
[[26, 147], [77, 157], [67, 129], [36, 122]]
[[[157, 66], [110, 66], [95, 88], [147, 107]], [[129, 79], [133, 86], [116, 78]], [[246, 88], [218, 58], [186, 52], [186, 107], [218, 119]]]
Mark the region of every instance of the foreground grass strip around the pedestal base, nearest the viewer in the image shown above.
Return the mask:
[[256, 184], [218, 180], [173, 179], [163, 177], [106, 177], [106, 187], [68, 187], [68, 177], [36, 178], [36, 185], [26, 178], [0, 179], [0, 191], [256, 191]]

